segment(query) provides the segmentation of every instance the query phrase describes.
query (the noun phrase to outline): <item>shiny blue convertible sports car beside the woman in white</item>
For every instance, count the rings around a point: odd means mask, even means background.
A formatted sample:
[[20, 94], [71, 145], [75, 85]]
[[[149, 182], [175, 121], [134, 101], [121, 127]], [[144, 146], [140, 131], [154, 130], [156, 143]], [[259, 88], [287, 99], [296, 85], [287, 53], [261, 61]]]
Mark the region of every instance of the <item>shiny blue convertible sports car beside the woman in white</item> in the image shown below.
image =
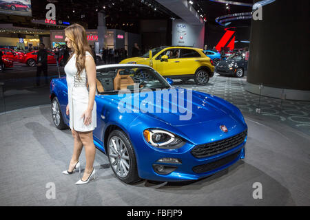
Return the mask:
[[[96, 72], [94, 144], [121, 181], [200, 179], [245, 157], [247, 124], [233, 104], [172, 87], [146, 65], [101, 65]], [[65, 78], [52, 80], [50, 99], [55, 126], [68, 128]]]

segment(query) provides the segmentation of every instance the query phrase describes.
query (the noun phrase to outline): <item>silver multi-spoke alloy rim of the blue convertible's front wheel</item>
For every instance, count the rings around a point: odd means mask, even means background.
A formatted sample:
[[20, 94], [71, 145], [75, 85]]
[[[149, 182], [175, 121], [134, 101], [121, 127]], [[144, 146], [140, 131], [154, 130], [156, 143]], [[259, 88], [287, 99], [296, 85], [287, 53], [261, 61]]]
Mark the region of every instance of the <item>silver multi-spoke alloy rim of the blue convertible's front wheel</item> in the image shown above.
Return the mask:
[[117, 136], [110, 138], [109, 157], [114, 173], [125, 178], [130, 172], [130, 157], [123, 140]]

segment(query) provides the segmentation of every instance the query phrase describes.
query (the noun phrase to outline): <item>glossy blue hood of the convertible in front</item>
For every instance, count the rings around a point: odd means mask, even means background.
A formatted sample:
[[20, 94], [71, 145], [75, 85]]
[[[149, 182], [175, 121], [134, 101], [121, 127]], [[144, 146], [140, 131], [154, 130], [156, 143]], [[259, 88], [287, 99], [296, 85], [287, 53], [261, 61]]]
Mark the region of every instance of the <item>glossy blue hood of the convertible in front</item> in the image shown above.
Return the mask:
[[[163, 98], [161, 101], [158, 98], [160, 96], [170, 98]], [[231, 112], [209, 94], [183, 88], [141, 92], [140, 95], [138, 93], [110, 95], [104, 98], [118, 104], [119, 111], [121, 105], [121, 111], [126, 111], [124, 107], [127, 106], [127, 112], [140, 112], [150, 120], [160, 120], [171, 126], [186, 126], [227, 118], [234, 120], [230, 115]]]

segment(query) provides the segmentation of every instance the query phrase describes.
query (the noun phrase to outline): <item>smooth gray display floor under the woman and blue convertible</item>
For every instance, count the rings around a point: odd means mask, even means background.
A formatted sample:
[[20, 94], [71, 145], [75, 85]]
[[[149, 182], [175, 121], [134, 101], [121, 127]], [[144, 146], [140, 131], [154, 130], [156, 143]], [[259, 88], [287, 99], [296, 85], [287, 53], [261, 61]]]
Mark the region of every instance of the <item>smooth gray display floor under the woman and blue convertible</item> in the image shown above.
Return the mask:
[[[211, 177], [123, 184], [96, 151], [97, 178], [76, 186], [79, 173], [61, 173], [68, 168], [73, 138], [70, 130], [54, 127], [49, 105], [2, 114], [0, 206], [309, 206], [309, 135], [279, 120], [244, 115], [245, 159]], [[85, 167], [84, 151], [80, 161]], [[262, 184], [262, 199], [253, 197], [256, 182]], [[51, 183], [54, 199], [47, 197]]]

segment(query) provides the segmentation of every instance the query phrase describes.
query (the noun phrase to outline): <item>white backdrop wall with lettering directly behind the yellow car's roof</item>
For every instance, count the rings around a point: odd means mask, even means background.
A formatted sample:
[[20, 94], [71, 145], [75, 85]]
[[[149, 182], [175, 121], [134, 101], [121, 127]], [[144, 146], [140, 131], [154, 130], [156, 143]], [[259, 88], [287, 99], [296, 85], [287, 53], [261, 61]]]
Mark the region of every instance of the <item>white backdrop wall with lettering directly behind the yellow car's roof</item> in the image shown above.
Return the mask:
[[203, 48], [205, 41], [205, 23], [189, 25], [183, 20], [172, 22], [172, 45]]

